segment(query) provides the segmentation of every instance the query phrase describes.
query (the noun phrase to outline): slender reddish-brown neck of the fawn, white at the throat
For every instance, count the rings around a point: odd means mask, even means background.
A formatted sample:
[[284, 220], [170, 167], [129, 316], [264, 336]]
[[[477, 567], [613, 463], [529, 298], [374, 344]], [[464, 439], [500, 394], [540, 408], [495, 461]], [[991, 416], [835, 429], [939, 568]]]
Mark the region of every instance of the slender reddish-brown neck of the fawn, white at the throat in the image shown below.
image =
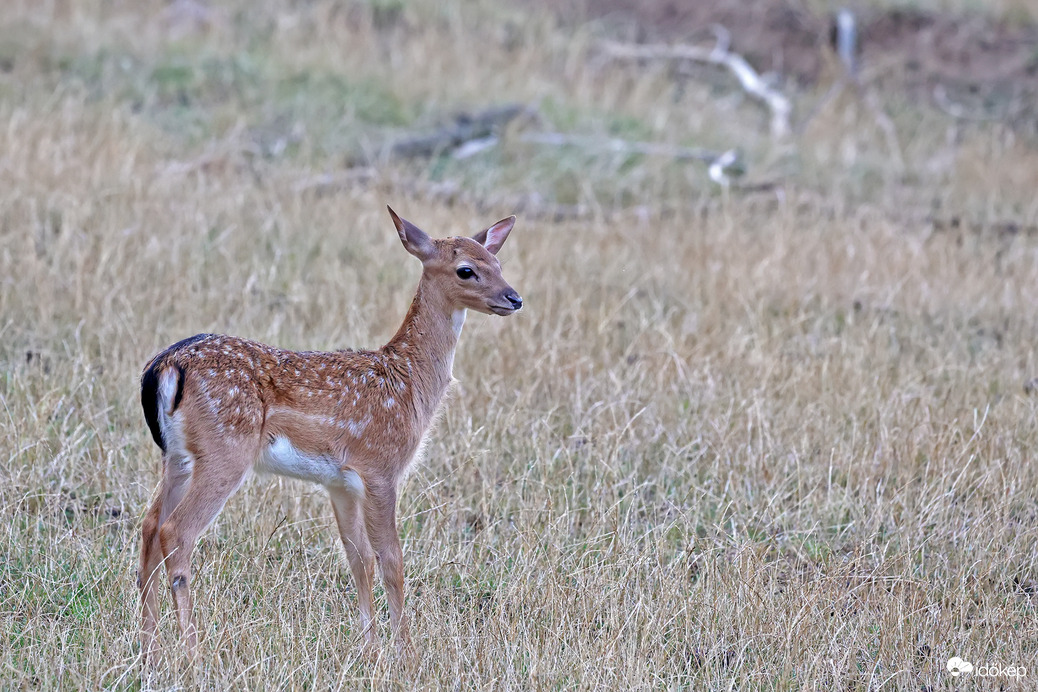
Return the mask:
[[410, 380], [415, 409], [428, 421], [450, 385], [455, 349], [465, 309], [450, 307], [446, 298], [422, 275], [411, 307], [382, 350]]

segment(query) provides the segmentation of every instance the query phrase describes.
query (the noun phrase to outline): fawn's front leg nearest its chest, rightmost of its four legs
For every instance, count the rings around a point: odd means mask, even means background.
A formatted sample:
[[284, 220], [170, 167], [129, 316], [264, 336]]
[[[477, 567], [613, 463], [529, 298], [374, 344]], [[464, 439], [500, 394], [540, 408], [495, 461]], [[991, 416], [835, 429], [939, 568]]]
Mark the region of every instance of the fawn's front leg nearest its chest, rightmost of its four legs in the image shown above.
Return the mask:
[[404, 551], [397, 533], [397, 488], [392, 482], [370, 487], [364, 497], [367, 537], [382, 568], [382, 584], [389, 602], [389, 622], [398, 649], [410, 644], [404, 617]]

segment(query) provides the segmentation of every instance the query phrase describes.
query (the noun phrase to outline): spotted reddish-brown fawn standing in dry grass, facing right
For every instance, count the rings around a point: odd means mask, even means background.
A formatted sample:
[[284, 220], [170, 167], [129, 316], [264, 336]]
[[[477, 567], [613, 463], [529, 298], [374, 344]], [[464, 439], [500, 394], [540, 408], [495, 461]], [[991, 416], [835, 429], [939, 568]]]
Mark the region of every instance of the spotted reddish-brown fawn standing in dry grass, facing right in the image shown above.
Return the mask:
[[421, 279], [395, 336], [378, 351], [295, 352], [198, 334], [147, 363], [141, 405], [162, 448], [162, 479], [141, 529], [141, 644], [156, 651], [157, 574], [165, 564], [188, 656], [196, 658], [191, 552], [250, 469], [328, 490], [357, 586], [365, 644], [376, 641], [375, 562], [399, 647], [408, 641], [398, 485], [452, 381], [467, 309], [507, 315], [522, 299], [494, 256], [515, 224], [431, 239], [390, 209]]

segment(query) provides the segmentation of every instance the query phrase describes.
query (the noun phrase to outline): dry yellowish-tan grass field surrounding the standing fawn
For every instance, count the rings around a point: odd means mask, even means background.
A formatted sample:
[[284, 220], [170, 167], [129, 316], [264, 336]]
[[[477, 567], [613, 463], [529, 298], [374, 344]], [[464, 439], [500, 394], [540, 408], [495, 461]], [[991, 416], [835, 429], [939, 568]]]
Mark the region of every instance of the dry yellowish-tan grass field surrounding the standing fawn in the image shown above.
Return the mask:
[[[0, 687], [1035, 685], [1034, 133], [892, 88], [904, 170], [852, 92], [775, 142], [725, 79], [603, 64], [599, 25], [538, 6], [5, 7]], [[520, 137], [378, 155], [502, 103], [738, 146], [767, 185]], [[257, 477], [195, 553], [200, 666], [164, 598], [145, 671], [141, 367], [202, 331], [381, 344], [419, 271], [386, 203], [434, 236], [521, 206], [502, 262], [526, 307], [469, 317], [402, 491], [416, 657], [360, 657], [326, 496]], [[953, 656], [1028, 677], [953, 679]]]

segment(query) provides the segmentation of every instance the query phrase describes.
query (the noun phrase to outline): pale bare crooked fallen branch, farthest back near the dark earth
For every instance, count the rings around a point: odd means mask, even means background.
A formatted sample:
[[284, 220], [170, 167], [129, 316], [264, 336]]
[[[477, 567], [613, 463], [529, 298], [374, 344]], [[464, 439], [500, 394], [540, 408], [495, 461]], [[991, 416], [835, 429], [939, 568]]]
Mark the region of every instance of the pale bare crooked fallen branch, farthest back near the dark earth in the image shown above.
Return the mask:
[[763, 103], [771, 113], [771, 136], [781, 139], [790, 134], [789, 118], [793, 111], [789, 99], [771, 88], [754, 67], [738, 53], [728, 50], [728, 31], [715, 27], [717, 44], [713, 48], [700, 46], [663, 46], [652, 44], [601, 44], [611, 58], [626, 60], [691, 60], [720, 65], [730, 70], [743, 90]]

